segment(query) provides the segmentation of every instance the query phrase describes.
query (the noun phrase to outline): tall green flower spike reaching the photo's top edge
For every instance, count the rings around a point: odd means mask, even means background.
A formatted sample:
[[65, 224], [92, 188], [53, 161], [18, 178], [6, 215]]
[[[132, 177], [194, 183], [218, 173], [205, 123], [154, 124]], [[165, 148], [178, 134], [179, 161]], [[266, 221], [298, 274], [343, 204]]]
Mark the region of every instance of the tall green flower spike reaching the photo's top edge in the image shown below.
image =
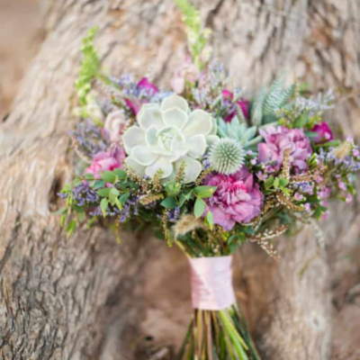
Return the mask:
[[186, 36], [189, 51], [193, 57], [193, 63], [201, 70], [203, 62], [210, 58], [209, 54], [204, 54], [209, 37], [210, 29], [202, 29], [202, 18], [200, 12], [189, 3], [188, 0], [175, 0], [175, 3], [183, 13], [183, 21], [186, 25]]

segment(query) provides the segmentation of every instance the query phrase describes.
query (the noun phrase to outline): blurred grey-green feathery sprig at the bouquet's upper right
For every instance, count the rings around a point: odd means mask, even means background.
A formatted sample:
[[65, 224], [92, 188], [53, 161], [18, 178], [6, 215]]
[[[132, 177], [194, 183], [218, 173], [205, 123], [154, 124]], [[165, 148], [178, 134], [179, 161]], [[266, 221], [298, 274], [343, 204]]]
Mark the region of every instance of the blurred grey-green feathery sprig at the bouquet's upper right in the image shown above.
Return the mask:
[[261, 126], [278, 121], [277, 110], [288, 103], [294, 91], [295, 85], [284, 87], [284, 79], [276, 79], [267, 92], [265, 87], [262, 87], [251, 105], [251, 122]]

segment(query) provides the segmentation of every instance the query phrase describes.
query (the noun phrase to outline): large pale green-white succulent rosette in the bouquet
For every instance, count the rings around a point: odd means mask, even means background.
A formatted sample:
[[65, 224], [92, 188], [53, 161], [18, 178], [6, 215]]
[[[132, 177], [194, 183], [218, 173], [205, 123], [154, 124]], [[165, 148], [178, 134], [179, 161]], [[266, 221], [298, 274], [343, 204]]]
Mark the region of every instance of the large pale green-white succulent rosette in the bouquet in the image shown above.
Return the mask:
[[140, 176], [154, 177], [161, 169], [161, 178], [170, 180], [184, 163], [184, 183], [195, 181], [202, 171], [198, 158], [218, 139], [211, 113], [191, 112], [183, 97], [172, 95], [161, 106], [144, 104], [137, 120], [139, 126], [130, 127], [122, 136], [130, 155], [125, 164]]

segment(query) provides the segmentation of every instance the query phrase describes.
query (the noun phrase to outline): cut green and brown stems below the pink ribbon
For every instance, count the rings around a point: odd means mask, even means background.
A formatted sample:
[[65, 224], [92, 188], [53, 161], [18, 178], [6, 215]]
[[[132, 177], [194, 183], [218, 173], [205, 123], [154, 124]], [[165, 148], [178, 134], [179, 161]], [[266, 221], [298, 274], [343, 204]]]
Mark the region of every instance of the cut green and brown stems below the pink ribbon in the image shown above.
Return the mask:
[[194, 309], [178, 360], [260, 360], [238, 304], [222, 311]]

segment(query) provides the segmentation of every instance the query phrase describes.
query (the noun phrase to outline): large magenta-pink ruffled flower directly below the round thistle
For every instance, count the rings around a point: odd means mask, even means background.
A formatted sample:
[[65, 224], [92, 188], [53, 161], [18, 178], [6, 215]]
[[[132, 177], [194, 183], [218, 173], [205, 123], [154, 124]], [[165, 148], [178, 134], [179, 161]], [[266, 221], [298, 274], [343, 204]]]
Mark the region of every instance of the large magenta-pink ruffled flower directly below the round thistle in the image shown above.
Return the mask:
[[249, 222], [260, 214], [264, 196], [246, 166], [233, 175], [211, 173], [204, 184], [218, 186], [206, 202], [214, 223], [224, 229], [230, 230], [237, 222]]

